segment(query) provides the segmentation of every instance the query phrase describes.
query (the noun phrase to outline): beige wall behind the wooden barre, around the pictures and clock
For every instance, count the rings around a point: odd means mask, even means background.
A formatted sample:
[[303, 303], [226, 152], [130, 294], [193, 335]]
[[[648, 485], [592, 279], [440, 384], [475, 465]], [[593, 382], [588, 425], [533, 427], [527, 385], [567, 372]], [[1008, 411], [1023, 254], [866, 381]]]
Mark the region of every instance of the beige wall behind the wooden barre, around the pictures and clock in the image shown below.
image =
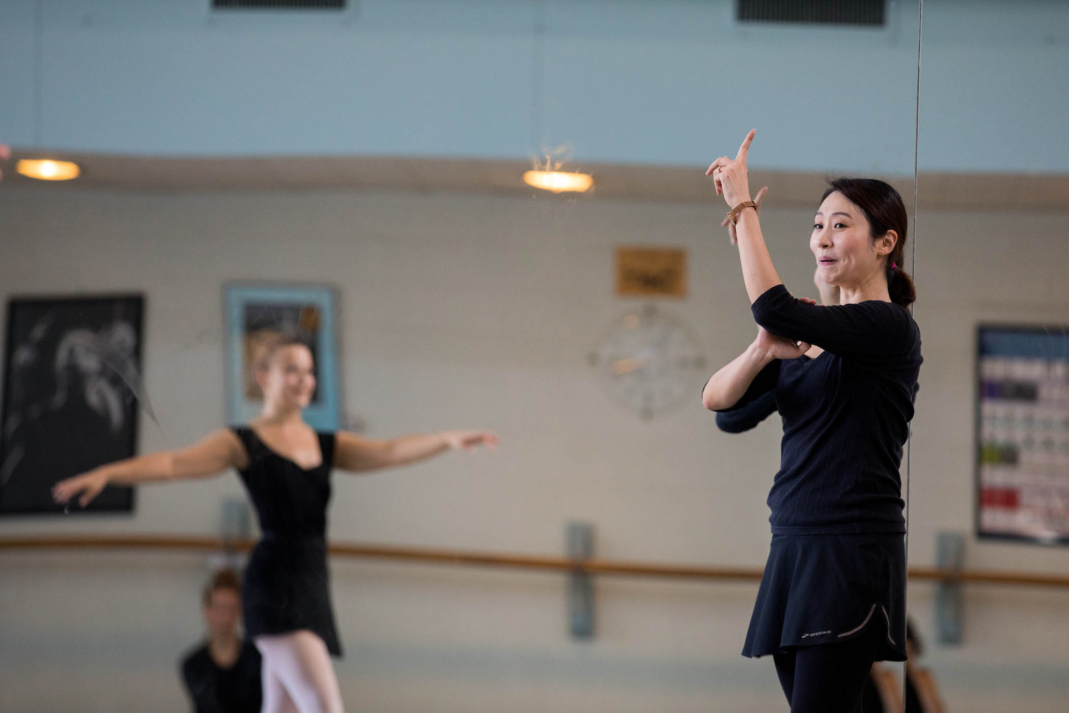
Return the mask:
[[[773, 186], [773, 191], [775, 187]], [[763, 214], [795, 294], [811, 294], [810, 207]], [[694, 398], [652, 422], [617, 407], [587, 365], [629, 306], [619, 244], [686, 247], [690, 297], [664, 304], [711, 363], [752, 338], [721, 206], [459, 195], [129, 196], [0, 191], [0, 292], [142, 291], [144, 370], [159, 427], [142, 450], [224, 423], [221, 285], [335, 283], [343, 399], [368, 433], [486, 425], [502, 444], [403, 470], [335, 478], [338, 540], [561, 554], [564, 524], [600, 556], [760, 565], [774, 422], [727, 436]], [[978, 544], [972, 531], [973, 342], [981, 320], [1069, 323], [1064, 214], [920, 216], [916, 316], [926, 362], [914, 421], [910, 553], [969, 536], [969, 564], [1064, 572], [1069, 551]], [[218, 531], [233, 475], [142, 487], [133, 517], [6, 518], [0, 536]], [[198, 636], [193, 555], [0, 555], [0, 710], [185, 710], [175, 660]], [[769, 661], [738, 655], [756, 586], [603, 578], [598, 636], [569, 639], [564, 580], [338, 561], [335, 604], [352, 710], [768, 711]], [[933, 638], [930, 585], [912, 608]], [[971, 588], [965, 642], [931, 640], [954, 710], [1060, 711], [1069, 592]]]

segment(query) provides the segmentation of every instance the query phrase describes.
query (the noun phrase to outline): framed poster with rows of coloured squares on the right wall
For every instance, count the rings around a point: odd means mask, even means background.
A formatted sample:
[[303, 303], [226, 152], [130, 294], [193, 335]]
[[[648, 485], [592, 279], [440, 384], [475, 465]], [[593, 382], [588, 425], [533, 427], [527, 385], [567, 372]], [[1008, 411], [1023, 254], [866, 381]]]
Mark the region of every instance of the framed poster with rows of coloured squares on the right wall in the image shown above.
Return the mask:
[[1069, 327], [977, 330], [976, 532], [1069, 544]]

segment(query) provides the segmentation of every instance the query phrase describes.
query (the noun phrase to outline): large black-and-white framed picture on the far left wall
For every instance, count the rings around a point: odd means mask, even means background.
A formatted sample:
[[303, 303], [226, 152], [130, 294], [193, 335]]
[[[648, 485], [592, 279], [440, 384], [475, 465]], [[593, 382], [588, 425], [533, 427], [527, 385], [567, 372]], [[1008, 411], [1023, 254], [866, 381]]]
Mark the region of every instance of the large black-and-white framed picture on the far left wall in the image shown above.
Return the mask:
[[[62, 513], [57, 481], [134, 455], [143, 312], [141, 295], [7, 303], [0, 513]], [[109, 486], [84, 510], [133, 509], [133, 489]]]

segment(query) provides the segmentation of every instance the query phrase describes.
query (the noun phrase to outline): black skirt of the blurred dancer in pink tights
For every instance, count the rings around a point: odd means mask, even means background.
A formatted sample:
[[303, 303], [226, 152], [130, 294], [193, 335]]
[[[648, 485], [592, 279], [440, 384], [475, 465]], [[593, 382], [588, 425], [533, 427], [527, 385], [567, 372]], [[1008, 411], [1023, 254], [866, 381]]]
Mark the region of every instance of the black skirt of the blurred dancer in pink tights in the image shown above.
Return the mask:
[[323, 539], [265, 536], [249, 557], [243, 589], [246, 636], [308, 630], [341, 656]]

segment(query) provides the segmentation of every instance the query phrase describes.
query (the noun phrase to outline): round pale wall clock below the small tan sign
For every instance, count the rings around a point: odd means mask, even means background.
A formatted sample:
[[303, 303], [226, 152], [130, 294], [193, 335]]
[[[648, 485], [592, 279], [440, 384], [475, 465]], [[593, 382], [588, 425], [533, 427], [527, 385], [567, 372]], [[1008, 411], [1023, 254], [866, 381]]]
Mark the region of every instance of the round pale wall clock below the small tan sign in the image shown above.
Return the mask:
[[589, 360], [613, 399], [646, 420], [701, 396], [706, 357], [698, 340], [653, 305], [620, 316]]

